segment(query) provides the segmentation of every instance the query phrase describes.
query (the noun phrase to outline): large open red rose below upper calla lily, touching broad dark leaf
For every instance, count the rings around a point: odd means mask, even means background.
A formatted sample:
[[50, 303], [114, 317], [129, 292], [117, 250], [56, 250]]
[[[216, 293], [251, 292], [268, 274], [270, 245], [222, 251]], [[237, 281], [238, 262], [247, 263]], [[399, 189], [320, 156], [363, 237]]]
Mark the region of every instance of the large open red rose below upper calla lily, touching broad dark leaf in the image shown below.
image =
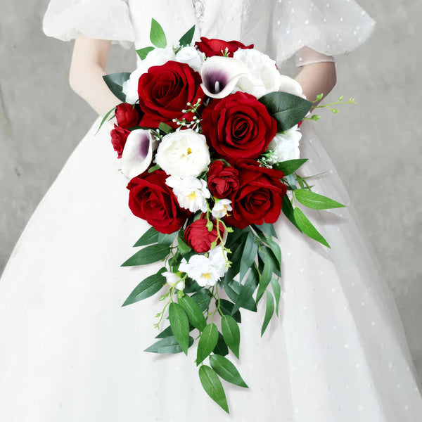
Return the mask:
[[277, 133], [264, 104], [245, 92], [212, 100], [202, 117], [203, 134], [226, 158], [257, 158]]

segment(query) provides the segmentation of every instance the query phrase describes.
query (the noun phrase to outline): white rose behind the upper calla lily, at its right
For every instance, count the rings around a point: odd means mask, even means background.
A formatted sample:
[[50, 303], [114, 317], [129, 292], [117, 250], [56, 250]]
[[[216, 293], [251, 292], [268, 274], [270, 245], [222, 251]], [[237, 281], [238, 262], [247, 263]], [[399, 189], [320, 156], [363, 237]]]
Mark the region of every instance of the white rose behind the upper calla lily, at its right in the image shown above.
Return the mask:
[[252, 78], [242, 77], [237, 86], [257, 98], [269, 92], [279, 91], [281, 80], [276, 62], [267, 54], [255, 49], [238, 49], [233, 55], [248, 66]]

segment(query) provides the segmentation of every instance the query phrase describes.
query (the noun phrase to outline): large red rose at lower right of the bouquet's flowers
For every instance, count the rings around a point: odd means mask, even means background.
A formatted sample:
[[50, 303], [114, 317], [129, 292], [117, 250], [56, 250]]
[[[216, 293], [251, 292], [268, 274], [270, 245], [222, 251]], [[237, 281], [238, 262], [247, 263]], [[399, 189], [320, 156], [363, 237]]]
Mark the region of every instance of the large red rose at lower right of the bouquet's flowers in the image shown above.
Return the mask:
[[250, 224], [275, 223], [281, 213], [286, 185], [280, 179], [283, 172], [260, 167], [253, 160], [236, 162], [239, 188], [231, 198], [233, 211], [224, 217], [228, 224], [245, 229]]

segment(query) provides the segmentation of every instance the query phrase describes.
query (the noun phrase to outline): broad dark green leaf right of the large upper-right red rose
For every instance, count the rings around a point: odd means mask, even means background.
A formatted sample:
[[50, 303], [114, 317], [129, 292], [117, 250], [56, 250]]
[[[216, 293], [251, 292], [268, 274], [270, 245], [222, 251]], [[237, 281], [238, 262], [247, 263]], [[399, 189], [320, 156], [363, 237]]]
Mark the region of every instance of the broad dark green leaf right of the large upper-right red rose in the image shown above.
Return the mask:
[[259, 101], [276, 120], [279, 132], [285, 132], [298, 124], [312, 107], [310, 101], [288, 92], [270, 92], [259, 98]]

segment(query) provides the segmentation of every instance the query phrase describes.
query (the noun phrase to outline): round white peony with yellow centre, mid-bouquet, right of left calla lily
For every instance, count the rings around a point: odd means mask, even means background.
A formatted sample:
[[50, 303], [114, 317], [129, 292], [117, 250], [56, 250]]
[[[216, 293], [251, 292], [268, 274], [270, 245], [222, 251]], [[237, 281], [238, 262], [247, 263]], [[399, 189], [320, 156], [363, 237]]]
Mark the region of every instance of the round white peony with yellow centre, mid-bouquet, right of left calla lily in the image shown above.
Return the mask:
[[162, 138], [155, 162], [170, 176], [198, 177], [210, 165], [205, 136], [192, 129], [178, 130]]

